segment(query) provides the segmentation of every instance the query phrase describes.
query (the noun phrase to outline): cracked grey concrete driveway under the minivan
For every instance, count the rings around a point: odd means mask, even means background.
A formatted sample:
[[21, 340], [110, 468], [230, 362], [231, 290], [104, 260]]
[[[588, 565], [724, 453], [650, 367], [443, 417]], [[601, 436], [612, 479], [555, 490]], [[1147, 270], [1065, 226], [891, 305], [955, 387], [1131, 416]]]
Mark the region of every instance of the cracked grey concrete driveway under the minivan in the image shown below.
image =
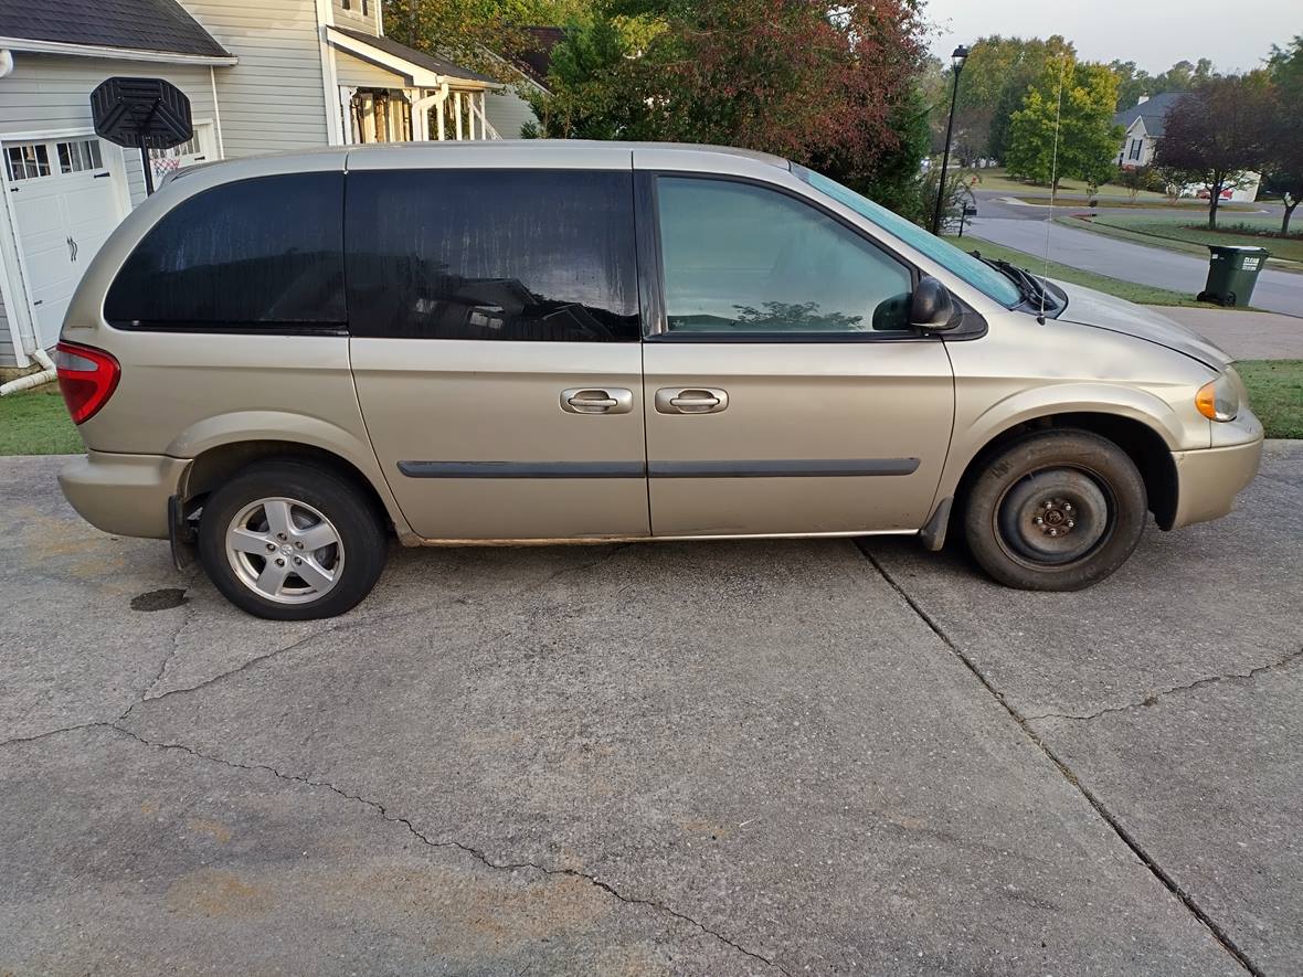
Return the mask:
[[1081, 594], [396, 551], [241, 616], [0, 461], [0, 973], [1294, 974], [1303, 446]]

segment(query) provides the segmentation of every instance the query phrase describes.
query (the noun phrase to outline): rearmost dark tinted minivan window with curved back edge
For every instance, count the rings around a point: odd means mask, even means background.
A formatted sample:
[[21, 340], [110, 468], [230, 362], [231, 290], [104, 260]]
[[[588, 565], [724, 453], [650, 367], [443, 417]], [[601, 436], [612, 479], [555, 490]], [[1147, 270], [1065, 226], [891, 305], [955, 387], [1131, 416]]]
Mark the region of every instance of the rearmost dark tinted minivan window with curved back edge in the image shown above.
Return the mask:
[[119, 328], [343, 330], [344, 176], [227, 184], [179, 203], [104, 300]]

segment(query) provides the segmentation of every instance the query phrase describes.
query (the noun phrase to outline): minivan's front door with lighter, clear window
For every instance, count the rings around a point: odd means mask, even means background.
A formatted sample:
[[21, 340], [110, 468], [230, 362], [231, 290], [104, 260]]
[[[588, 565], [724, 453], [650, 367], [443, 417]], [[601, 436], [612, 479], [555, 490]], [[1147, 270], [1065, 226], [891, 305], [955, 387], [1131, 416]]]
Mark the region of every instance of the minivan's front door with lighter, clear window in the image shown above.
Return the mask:
[[[652, 177], [646, 177], [652, 178]], [[644, 350], [655, 535], [913, 530], [954, 417], [911, 270], [797, 194], [665, 175]]]

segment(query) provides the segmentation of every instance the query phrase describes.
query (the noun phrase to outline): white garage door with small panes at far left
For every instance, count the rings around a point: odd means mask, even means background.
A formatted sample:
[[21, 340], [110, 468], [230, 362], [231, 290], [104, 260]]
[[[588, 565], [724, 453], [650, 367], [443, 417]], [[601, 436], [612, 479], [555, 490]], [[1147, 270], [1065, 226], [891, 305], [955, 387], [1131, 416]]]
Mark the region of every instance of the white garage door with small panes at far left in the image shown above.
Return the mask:
[[103, 152], [95, 138], [4, 145], [36, 340], [46, 349], [59, 341], [82, 272], [121, 219]]

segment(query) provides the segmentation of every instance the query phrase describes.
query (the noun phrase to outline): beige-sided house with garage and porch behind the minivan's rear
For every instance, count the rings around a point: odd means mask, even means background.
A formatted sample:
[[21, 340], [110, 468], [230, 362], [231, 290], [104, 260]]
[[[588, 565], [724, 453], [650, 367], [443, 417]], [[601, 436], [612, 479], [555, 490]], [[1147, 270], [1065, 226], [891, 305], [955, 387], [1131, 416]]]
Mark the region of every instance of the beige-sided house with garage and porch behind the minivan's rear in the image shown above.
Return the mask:
[[386, 38], [380, 17], [380, 0], [3, 0], [0, 366], [57, 341], [86, 264], [145, 197], [139, 151], [91, 125], [106, 78], [189, 96], [194, 138], [151, 154], [156, 178], [323, 145], [499, 138], [487, 104], [504, 86]]

